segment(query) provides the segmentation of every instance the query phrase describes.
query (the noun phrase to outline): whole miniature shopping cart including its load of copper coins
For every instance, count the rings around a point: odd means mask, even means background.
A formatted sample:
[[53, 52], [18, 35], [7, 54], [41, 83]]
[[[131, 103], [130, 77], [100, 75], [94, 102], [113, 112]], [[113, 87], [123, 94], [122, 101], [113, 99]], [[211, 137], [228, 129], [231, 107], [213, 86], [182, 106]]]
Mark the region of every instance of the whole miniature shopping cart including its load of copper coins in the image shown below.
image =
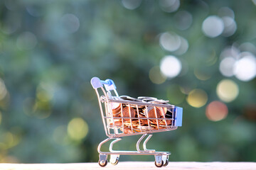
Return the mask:
[[[91, 84], [97, 94], [103, 125], [108, 137], [97, 147], [100, 154], [100, 166], [107, 165], [107, 155], [109, 154], [111, 164], [117, 164], [121, 154], [137, 154], [154, 155], [157, 167], [166, 166], [171, 153], [146, 149], [146, 142], [154, 132], [176, 130], [178, 126], [181, 126], [183, 109], [157, 98], [119, 96], [114, 82], [110, 79], [102, 81], [93, 77]], [[99, 88], [101, 91], [98, 90]], [[142, 135], [137, 141], [137, 151], [112, 149], [114, 143], [122, 140], [122, 137], [131, 135]], [[144, 137], [146, 140], [143, 142], [143, 149], [140, 149], [139, 145]], [[110, 152], [102, 152], [100, 148], [110, 140], [113, 140], [110, 142]]]

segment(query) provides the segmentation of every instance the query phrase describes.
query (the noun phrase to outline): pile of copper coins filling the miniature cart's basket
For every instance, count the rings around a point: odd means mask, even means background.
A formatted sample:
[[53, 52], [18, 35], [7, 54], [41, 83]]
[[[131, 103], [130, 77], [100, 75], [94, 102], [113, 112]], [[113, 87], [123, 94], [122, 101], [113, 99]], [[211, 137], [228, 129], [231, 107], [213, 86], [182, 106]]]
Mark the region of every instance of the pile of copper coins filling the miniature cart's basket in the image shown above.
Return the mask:
[[[119, 128], [124, 134], [166, 129], [171, 126], [173, 109], [169, 107], [171, 106], [169, 101], [152, 97], [132, 98], [129, 96], [119, 96], [117, 99], [132, 101], [131, 103], [110, 102], [109, 116], [111, 114], [113, 116], [109, 119], [110, 125], [113, 128]], [[140, 104], [134, 104], [134, 102]]]

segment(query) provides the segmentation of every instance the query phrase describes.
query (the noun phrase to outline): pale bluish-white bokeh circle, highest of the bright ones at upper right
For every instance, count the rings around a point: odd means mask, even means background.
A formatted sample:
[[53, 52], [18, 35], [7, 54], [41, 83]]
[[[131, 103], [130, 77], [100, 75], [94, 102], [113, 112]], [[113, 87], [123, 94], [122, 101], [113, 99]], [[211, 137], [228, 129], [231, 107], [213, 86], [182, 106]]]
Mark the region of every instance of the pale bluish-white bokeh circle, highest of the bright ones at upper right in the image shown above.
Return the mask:
[[209, 38], [215, 38], [224, 30], [223, 20], [218, 16], [208, 16], [202, 25], [203, 33]]

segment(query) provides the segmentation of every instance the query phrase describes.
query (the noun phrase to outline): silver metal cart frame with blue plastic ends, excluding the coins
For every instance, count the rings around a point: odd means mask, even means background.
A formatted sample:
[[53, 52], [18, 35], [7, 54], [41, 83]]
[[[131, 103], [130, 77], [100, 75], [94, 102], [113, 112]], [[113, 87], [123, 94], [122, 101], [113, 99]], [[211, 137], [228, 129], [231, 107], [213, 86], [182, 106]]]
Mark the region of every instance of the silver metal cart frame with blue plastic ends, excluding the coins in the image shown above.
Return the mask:
[[[145, 102], [140, 102], [140, 101], [121, 100], [121, 99], [119, 99], [119, 95], [116, 91], [116, 86], [114, 85], [114, 81], [112, 81], [111, 79], [106, 79], [105, 81], [102, 81], [97, 77], [93, 77], [91, 79], [91, 84], [97, 94], [97, 99], [98, 99], [99, 106], [100, 106], [100, 113], [102, 115], [102, 122], [103, 122], [103, 125], [105, 128], [105, 134], [108, 137], [107, 139], [100, 142], [100, 144], [97, 147], [97, 152], [99, 152], [100, 166], [107, 165], [107, 155], [109, 155], [109, 154], [110, 154], [110, 163], [111, 164], [117, 164], [119, 162], [119, 155], [136, 154], [136, 155], [154, 155], [155, 165], [157, 167], [167, 166], [167, 164], [169, 163], [169, 155], [171, 154], [171, 152], [156, 152], [154, 149], [146, 149], [146, 143], [152, 137], [152, 133], [154, 133], [154, 132], [164, 132], [164, 131], [169, 131], [169, 130], [176, 130], [178, 128], [178, 126], [181, 126], [182, 125], [182, 112], [183, 112], [182, 108], [179, 108], [174, 105], [166, 106], [166, 104], [161, 104], [161, 103], [145, 103]], [[98, 89], [101, 89], [101, 91], [103, 93], [102, 96], [100, 96]], [[112, 92], [114, 92], [114, 96], [112, 96]], [[148, 114], [148, 111], [147, 111], [148, 107], [154, 107], [155, 111], [156, 111], [156, 108], [158, 108], [158, 107], [172, 109], [172, 111], [173, 111], [172, 117], [164, 118], [165, 121], [167, 121], [167, 120], [171, 121], [171, 125], [167, 125], [167, 123], [166, 123], [166, 127], [161, 129], [158, 122], [159, 122], [159, 120], [163, 120], [163, 118], [150, 118], [150, 120], [156, 121], [157, 126], [156, 126], [156, 128], [151, 129], [151, 127], [148, 124], [149, 128], [144, 130], [144, 129], [142, 129], [140, 121], [147, 120], [149, 122], [149, 118], [131, 118], [131, 111], [129, 109], [129, 117], [122, 117], [122, 126], [118, 127], [119, 129], [122, 130], [122, 132], [120, 132], [119, 130], [117, 130], [117, 127], [114, 124], [114, 120], [117, 119], [117, 117], [114, 117], [114, 115], [110, 109], [110, 103], [127, 104], [127, 106], [129, 108], [131, 108], [132, 106], [136, 106], [137, 111], [138, 111], [138, 106], [145, 106], [146, 114]], [[121, 107], [121, 109], [122, 109], [122, 107]], [[124, 133], [124, 119], [130, 120], [130, 124], [131, 124], [130, 127], [132, 129], [132, 132]], [[139, 125], [140, 125], [139, 132], [136, 132], [133, 130], [132, 119], [138, 120]], [[111, 121], [112, 121], [112, 125], [110, 125]], [[142, 137], [140, 137], [139, 140], [137, 141], [137, 145], [136, 145], [137, 151], [119, 151], [119, 150], [113, 149], [113, 145], [115, 143], [119, 142], [120, 140], [122, 140], [122, 137], [131, 136], [131, 135], [142, 135]], [[145, 140], [144, 140], [144, 138], [145, 138]], [[112, 142], [110, 142], [110, 147], [109, 147], [110, 152], [103, 152], [101, 150], [102, 145], [105, 144], [106, 142], [109, 142], [110, 140], [112, 140]], [[140, 149], [139, 146], [140, 146], [142, 140], [144, 140], [143, 149]]]

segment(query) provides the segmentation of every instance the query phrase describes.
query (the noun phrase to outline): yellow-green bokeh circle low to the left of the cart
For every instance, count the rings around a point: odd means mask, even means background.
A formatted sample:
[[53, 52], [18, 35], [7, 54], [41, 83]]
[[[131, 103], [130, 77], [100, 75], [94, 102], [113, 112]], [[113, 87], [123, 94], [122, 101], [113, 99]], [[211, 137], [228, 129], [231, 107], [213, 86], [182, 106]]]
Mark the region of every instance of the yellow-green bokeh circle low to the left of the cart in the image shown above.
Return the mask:
[[73, 118], [68, 123], [68, 136], [73, 140], [82, 140], [88, 133], [88, 125], [82, 118]]

